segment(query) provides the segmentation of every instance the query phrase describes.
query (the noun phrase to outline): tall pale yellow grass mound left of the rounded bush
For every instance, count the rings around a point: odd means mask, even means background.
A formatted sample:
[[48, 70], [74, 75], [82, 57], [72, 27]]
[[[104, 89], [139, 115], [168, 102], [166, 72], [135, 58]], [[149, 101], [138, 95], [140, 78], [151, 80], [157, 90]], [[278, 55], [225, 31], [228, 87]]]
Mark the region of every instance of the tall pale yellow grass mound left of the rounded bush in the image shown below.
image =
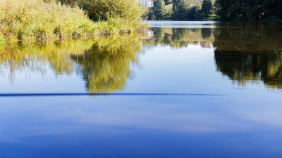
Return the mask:
[[0, 32], [8, 41], [36, 41], [93, 34], [94, 22], [80, 8], [50, 0], [0, 1]]

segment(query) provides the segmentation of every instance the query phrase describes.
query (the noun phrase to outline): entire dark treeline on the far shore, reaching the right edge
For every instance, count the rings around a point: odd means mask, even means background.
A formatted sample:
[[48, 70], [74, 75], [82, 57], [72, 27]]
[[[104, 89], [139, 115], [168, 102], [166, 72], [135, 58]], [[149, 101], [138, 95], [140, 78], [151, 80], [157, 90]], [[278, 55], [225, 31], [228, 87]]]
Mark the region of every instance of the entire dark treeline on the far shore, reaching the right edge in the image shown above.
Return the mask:
[[[173, 4], [171, 11], [165, 5]], [[282, 19], [282, 0], [211, 0], [191, 6], [185, 0], [155, 0], [149, 8], [149, 20], [193, 20], [216, 17], [223, 21], [257, 21]]]

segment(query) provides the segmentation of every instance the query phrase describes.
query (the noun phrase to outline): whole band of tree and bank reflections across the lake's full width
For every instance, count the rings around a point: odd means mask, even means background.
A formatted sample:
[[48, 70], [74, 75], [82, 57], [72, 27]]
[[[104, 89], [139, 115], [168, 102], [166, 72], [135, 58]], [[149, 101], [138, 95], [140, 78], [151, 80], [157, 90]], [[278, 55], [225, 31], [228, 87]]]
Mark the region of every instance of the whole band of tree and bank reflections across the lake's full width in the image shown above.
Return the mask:
[[[2, 74], [11, 81], [16, 72], [44, 74], [51, 65], [58, 74], [81, 74], [89, 92], [120, 91], [132, 78], [141, 43], [153, 48], [214, 47], [216, 70], [234, 82], [264, 81], [282, 88], [282, 24], [219, 22], [203, 28], [152, 28], [154, 36], [141, 41], [133, 35], [100, 37], [87, 41], [58, 41], [42, 46], [1, 48]], [[200, 73], [200, 72], [199, 72]]]

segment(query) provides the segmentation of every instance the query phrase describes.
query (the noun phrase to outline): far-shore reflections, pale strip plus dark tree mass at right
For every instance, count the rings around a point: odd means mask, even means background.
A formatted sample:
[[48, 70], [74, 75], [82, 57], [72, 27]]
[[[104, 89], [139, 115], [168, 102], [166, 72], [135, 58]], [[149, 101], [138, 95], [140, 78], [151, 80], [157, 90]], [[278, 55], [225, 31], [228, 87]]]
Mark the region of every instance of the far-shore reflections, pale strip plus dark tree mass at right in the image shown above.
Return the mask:
[[281, 23], [217, 22], [202, 28], [152, 28], [152, 46], [214, 48], [216, 70], [241, 86], [282, 87]]

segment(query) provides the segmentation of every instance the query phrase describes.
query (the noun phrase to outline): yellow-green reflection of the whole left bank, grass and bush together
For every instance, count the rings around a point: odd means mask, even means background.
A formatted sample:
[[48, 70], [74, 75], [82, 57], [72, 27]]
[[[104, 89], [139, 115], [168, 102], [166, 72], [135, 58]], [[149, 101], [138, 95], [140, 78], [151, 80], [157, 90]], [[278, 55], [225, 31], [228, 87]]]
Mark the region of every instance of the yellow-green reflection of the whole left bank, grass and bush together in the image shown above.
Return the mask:
[[19, 46], [0, 51], [1, 74], [13, 82], [17, 74], [81, 74], [89, 92], [119, 91], [133, 77], [140, 37], [100, 37], [85, 41], [56, 41], [42, 46]]

